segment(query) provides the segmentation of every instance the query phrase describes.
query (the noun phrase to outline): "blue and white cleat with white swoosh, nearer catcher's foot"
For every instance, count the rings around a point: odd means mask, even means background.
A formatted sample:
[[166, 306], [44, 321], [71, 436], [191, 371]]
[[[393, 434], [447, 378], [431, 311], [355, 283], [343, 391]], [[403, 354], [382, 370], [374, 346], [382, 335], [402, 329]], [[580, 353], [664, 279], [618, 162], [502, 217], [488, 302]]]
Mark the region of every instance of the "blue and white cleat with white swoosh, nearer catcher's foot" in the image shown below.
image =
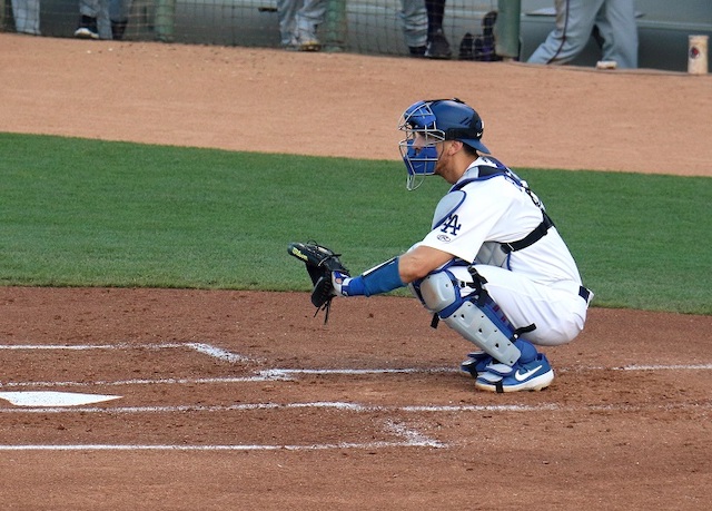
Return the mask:
[[531, 362], [516, 363], [512, 367], [494, 363], [477, 375], [475, 389], [487, 392], [541, 391], [554, 381], [554, 370], [546, 355], [537, 353]]

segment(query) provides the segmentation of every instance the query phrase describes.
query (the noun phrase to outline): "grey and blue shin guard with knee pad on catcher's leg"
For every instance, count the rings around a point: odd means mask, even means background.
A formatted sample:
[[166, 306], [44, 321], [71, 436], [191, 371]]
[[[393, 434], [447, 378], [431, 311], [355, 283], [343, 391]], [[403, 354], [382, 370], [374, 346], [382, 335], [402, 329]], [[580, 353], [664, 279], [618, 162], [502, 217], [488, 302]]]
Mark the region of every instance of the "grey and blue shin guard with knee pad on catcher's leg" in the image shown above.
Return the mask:
[[481, 283], [457, 279], [443, 269], [416, 283], [414, 291], [429, 312], [479, 350], [503, 364], [520, 360], [514, 327]]

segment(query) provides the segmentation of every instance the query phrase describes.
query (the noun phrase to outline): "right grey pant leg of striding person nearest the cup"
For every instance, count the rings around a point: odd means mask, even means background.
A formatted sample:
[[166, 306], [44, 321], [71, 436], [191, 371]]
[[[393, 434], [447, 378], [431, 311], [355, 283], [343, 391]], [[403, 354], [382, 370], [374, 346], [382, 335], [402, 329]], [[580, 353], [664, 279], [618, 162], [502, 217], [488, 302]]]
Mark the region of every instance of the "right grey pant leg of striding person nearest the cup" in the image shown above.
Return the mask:
[[633, 0], [606, 0], [596, 21], [603, 38], [603, 60], [637, 68], [637, 23]]

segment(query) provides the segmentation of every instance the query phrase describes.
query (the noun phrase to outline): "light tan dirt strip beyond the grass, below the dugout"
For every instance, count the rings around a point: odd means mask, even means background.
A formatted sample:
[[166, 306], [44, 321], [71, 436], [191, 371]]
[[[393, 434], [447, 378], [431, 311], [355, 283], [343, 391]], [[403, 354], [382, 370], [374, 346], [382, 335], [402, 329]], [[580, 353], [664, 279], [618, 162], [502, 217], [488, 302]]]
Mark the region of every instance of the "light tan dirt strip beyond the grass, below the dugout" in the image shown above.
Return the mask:
[[3, 131], [397, 159], [403, 110], [456, 96], [511, 166], [712, 176], [712, 75], [7, 33], [0, 45]]

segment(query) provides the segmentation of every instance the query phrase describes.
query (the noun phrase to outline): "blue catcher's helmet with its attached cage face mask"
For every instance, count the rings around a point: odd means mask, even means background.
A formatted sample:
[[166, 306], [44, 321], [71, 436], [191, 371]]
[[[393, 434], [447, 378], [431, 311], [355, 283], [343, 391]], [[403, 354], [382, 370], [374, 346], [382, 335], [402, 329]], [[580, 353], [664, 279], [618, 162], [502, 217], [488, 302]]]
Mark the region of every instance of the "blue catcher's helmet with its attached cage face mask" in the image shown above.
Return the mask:
[[[408, 171], [406, 188], [414, 190], [425, 176], [435, 174], [437, 143], [459, 140], [473, 149], [490, 154], [490, 149], [481, 141], [484, 126], [477, 112], [459, 99], [428, 99], [411, 105], [398, 125], [398, 129], [406, 134], [399, 144]], [[414, 146], [417, 135], [424, 138], [419, 147]]]

